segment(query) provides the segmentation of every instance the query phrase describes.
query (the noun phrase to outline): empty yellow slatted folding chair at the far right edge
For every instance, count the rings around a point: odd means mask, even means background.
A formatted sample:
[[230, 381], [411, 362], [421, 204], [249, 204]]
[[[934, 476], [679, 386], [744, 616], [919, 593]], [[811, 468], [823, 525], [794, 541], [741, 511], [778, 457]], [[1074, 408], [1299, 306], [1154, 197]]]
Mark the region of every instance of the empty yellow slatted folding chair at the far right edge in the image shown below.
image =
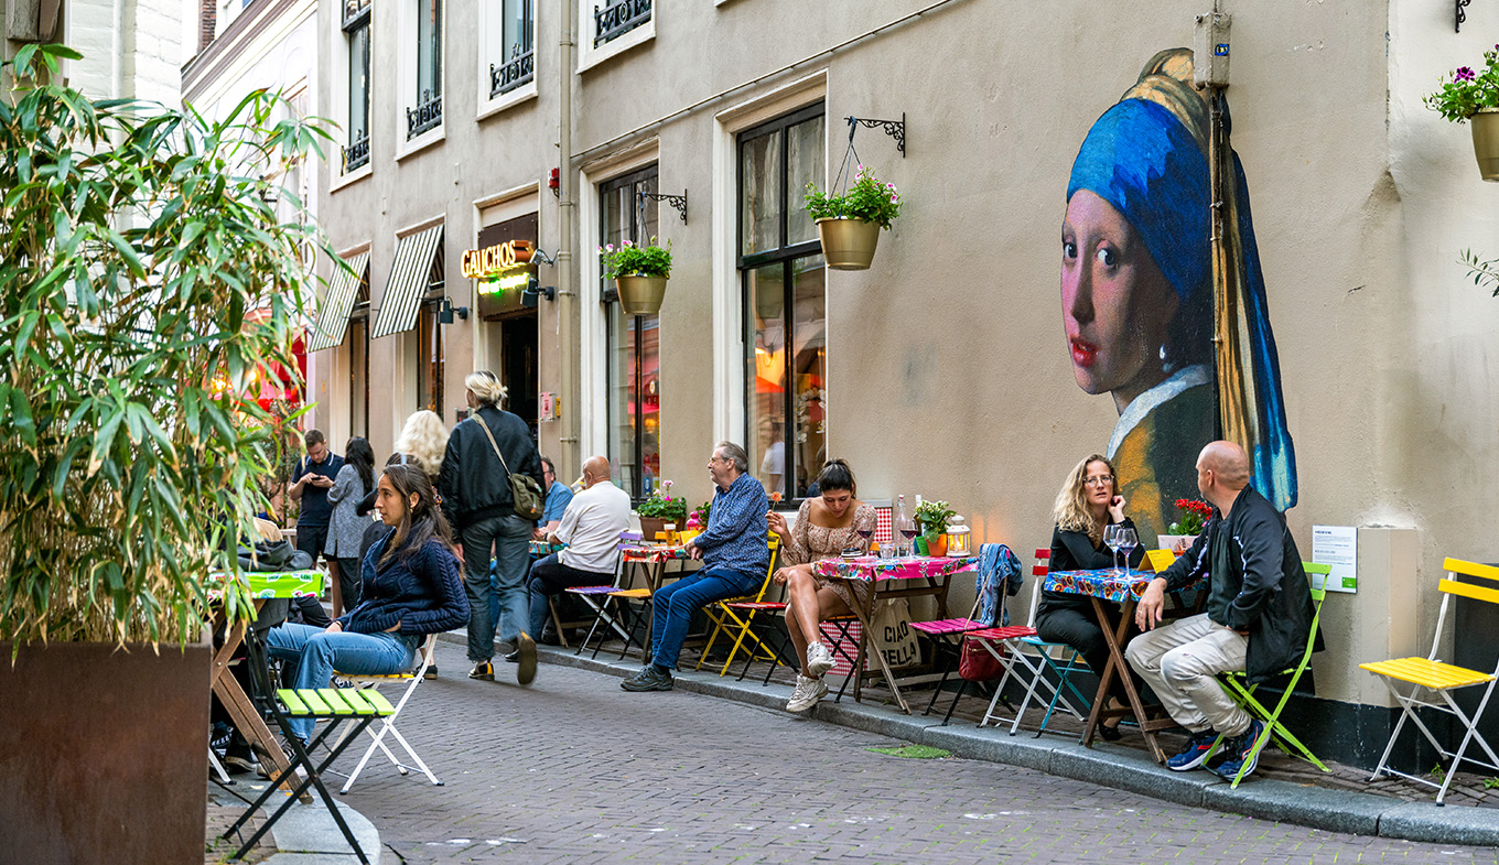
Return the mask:
[[[1373, 781], [1382, 774], [1399, 775], [1408, 781], [1426, 784], [1427, 787], [1436, 787], [1438, 805], [1444, 804], [1442, 799], [1447, 796], [1447, 789], [1453, 784], [1453, 775], [1457, 774], [1457, 768], [1463, 763], [1463, 760], [1487, 769], [1499, 771], [1499, 756], [1495, 756], [1493, 748], [1489, 747], [1489, 742], [1486, 742], [1483, 735], [1478, 732], [1478, 721], [1484, 715], [1489, 697], [1495, 693], [1495, 681], [1499, 679], [1499, 660], [1496, 660], [1495, 670], [1492, 673], [1484, 673], [1481, 670], [1468, 670], [1456, 664], [1448, 664], [1436, 657], [1438, 646], [1442, 643], [1442, 625], [1447, 624], [1447, 609], [1453, 601], [1453, 595], [1474, 601], [1499, 604], [1499, 589], [1475, 585], [1472, 582], [1460, 582], [1457, 577], [1478, 577], [1481, 580], [1499, 583], [1499, 568], [1480, 565], [1477, 562], [1465, 562], [1462, 559], [1445, 559], [1442, 562], [1442, 570], [1447, 571], [1447, 577], [1436, 585], [1436, 588], [1442, 592], [1442, 610], [1436, 618], [1436, 636], [1432, 639], [1432, 652], [1424, 658], [1397, 658], [1358, 666], [1361, 670], [1369, 670], [1370, 673], [1379, 676], [1385, 687], [1390, 688], [1390, 696], [1394, 697], [1396, 703], [1400, 706], [1400, 720], [1396, 723], [1396, 729], [1390, 733], [1390, 744], [1385, 745], [1385, 753], [1379, 757], [1379, 766], [1369, 780]], [[1397, 682], [1400, 682], [1399, 687]], [[1469, 717], [1453, 699], [1453, 691], [1477, 685], [1484, 685], [1484, 693], [1478, 700], [1478, 708], [1474, 709], [1472, 717]], [[1402, 693], [1402, 688], [1406, 690]], [[1442, 702], [1438, 703], [1432, 700], [1432, 697], [1441, 697]], [[1463, 742], [1456, 751], [1448, 751], [1442, 745], [1426, 723], [1421, 721], [1421, 717], [1415, 714], [1417, 708], [1445, 712], [1463, 724], [1466, 733], [1463, 733]], [[1405, 729], [1405, 723], [1408, 720], [1412, 721], [1418, 730], [1421, 730], [1432, 747], [1436, 748], [1438, 754], [1453, 760], [1453, 765], [1447, 769], [1447, 777], [1442, 778], [1441, 784], [1420, 775], [1406, 775], [1405, 772], [1390, 768], [1390, 754], [1394, 751], [1396, 739], [1400, 738], [1400, 730]], [[1492, 760], [1490, 763], [1484, 763], [1477, 757], [1465, 756], [1469, 742], [1474, 741], [1477, 741], [1478, 747], [1489, 756], [1489, 760]]]

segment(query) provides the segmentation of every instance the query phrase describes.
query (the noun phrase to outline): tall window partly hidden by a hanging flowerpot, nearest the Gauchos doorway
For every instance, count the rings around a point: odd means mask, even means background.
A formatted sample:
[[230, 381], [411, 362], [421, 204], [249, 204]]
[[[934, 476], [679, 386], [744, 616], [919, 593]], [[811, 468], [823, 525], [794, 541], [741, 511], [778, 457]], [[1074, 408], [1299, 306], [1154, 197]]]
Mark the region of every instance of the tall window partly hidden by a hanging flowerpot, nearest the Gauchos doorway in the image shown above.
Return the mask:
[[[640, 207], [639, 192], [657, 190], [657, 166], [598, 187], [600, 237], [619, 246], [657, 235], [657, 204]], [[600, 270], [603, 273], [603, 270]], [[609, 330], [609, 459], [631, 498], [651, 495], [661, 477], [661, 318], [625, 315], [613, 280], [603, 286]]]

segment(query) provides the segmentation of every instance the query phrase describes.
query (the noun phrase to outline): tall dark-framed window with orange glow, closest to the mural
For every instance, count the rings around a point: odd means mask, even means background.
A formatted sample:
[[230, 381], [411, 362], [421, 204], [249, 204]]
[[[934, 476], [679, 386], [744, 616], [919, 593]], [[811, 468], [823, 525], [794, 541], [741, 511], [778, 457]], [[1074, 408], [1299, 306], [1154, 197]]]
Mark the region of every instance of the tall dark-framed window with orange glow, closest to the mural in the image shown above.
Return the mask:
[[821, 105], [739, 135], [745, 444], [781, 499], [806, 496], [827, 459], [826, 268], [802, 201], [823, 183], [823, 141]]

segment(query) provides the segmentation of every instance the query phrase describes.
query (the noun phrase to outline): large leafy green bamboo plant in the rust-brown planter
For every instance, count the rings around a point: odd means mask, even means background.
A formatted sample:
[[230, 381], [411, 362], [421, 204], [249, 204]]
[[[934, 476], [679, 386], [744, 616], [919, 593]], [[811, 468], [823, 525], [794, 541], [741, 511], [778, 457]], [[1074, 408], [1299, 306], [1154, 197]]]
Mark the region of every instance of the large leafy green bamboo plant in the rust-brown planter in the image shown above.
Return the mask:
[[315, 297], [301, 252], [328, 252], [268, 180], [321, 154], [325, 124], [267, 91], [222, 120], [93, 100], [55, 82], [76, 57], [28, 45], [0, 69], [15, 82], [0, 99], [0, 640], [15, 651], [201, 634], [210, 573], [237, 570], [274, 469], [256, 376], [291, 361]]

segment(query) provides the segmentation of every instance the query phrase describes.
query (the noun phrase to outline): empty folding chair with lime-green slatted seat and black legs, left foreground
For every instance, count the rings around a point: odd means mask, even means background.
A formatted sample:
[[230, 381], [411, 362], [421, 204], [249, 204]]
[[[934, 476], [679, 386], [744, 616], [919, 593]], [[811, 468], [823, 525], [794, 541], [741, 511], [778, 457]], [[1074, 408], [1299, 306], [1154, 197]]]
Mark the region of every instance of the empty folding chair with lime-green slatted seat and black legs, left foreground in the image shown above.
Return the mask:
[[[379, 691], [363, 690], [363, 688], [271, 688], [270, 670], [265, 660], [265, 648], [262, 645], [262, 637], [259, 634], [250, 634], [246, 639], [246, 651], [249, 652], [250, 663], [250, 681], [253, 684], [255, 702], [276, 720], [276, 724], [282, 730], [282, 738], [292, 751], [291, 765], [285, 772], [277, 774], [271, 778], [270, 784], [265, 786], [265, 792], [246, 808], [244, 814], [234, 822], [232, 826], [225, 829], [223, 838], [229, 838], [240, 831], [241, 826], [256, 813], [276, 792], [280, 789], [283, 780], [289, 780], [292, 774], [301, 775], [295, 789], [286, 799], [276, 808], [261, 825], [259, 829], [250, 835], [249, 841], [244, 843], [240, 850], [231, 856], [231, 859], [243, 859], [244, 855], [255, 847], [271, 826], [291, 808], [309, 786], [316, 787], [318, 796], [322, 804], [328, 808], [328, 814], [333, 816], [333, 822], [343, 832], [343, 838], [349, 843], [354, 855], [360, 862], [369, 865], [369, 858], [364, 850], [360, 849], [360, 843], [354, 838], [354, 832], [349, 825], [345, 823], [343, 814], [339, 811], [337, 802], [333, 801], [333, 795], [322, 784], [322, 774], [328, 771], [328, 766], [339, 759], [340, 754], [354, 742], [360, 732], [367, 729], [376, 718], [388, 718], [396, 714], [396, 708], [390, 705]], [[420, 681], [420, 678], [418, 678]], [[312, 718], [316, 721], [328, 721], [328, 724], [319, 732], [309, 745], [303, 745], [291, 730], [291, 718]], [[312, 753], [322, 747], [334, 732], [337, 732], [345, 721], [354, 723], [354, 732], [349, 736], [337, 739], [336, 744], [328, 748], [319, 760], [312, 759]]]

